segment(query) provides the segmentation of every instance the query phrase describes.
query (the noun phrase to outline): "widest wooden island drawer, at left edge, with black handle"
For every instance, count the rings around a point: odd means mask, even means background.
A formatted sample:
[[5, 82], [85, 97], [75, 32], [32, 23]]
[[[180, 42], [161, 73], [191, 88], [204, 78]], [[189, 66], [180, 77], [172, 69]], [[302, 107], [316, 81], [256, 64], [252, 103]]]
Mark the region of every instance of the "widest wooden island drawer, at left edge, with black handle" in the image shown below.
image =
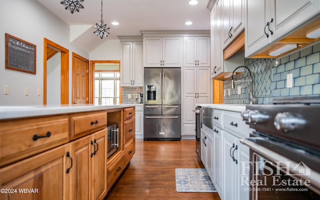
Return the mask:
[[0, 166], [68, 142], [68, 116], [0, 122]]

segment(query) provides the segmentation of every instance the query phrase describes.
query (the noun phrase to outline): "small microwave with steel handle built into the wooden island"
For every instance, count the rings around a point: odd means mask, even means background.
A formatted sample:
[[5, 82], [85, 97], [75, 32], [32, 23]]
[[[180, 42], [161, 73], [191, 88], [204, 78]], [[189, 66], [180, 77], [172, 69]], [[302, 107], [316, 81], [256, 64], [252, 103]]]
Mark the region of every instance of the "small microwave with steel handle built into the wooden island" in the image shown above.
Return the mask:
[[111, 156], [114, 152], [118, 150], [119, 145], [119, 128], [117, 128], [117, 124], [114, 123], [109, 125], [107, 128], [107, 157]]

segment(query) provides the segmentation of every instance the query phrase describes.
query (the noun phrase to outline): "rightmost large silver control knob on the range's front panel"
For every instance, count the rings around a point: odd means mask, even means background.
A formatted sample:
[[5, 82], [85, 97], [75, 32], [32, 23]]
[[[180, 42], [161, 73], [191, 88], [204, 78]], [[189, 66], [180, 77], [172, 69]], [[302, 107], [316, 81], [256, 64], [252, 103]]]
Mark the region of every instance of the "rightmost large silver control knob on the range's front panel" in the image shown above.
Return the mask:
[[295, 117], [290, 112], [279, 112], [275, 115], [273, 124], [277, 130], [287, 132], [302, 127], [305, 120]]

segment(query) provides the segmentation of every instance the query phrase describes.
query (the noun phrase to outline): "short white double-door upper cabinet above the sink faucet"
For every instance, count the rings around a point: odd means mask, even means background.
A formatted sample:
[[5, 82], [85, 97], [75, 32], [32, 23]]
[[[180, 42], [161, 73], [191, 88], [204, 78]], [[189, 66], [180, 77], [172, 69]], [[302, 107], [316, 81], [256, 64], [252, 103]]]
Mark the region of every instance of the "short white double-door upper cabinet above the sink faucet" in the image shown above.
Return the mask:
[[244, 29], [244, 0], [223, 0], [222, 2], [222, 49], [224, 49]]

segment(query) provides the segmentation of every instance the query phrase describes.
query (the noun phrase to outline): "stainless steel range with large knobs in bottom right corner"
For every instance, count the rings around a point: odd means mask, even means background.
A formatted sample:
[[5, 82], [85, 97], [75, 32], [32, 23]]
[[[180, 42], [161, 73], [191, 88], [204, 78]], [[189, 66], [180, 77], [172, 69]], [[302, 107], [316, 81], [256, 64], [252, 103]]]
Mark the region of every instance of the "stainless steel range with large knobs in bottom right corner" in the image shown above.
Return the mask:
[[247, 105], [250, 199], [320, 199], [320, 96]]

